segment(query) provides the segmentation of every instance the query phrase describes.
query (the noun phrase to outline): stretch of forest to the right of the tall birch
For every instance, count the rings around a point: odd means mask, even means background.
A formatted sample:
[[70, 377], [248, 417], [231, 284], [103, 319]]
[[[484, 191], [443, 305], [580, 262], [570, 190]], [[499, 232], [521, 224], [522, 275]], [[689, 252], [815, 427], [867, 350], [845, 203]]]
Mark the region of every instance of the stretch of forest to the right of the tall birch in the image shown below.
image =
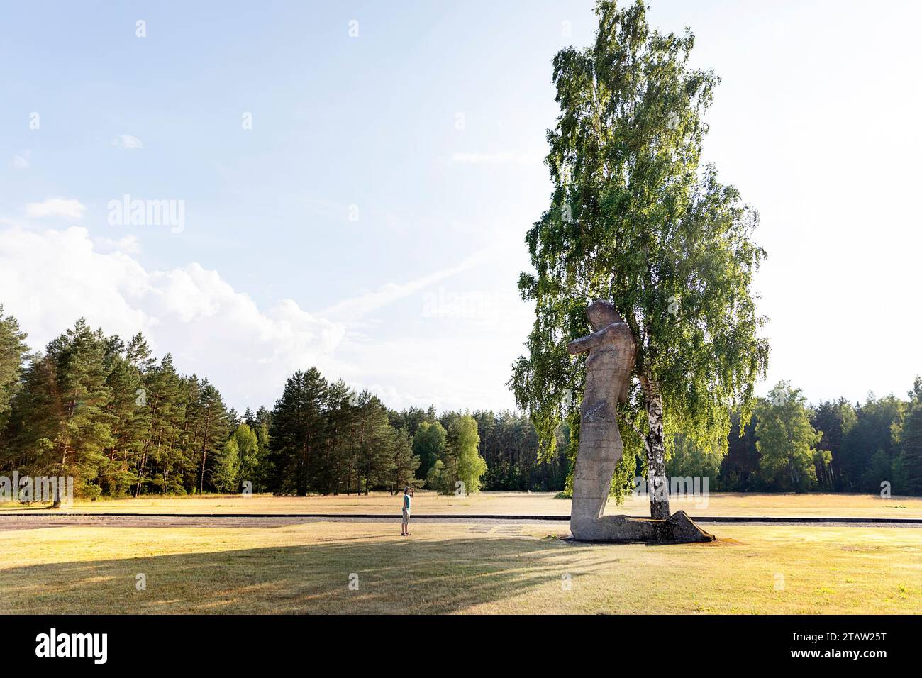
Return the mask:
[[735, 413], [726, 456], [677, 436], [670, 474], [706, 476], [720, 492], [922, 495], [922, 377], [906, 399], [870, 394], [815, 406], [780, 382], [739, 424]]

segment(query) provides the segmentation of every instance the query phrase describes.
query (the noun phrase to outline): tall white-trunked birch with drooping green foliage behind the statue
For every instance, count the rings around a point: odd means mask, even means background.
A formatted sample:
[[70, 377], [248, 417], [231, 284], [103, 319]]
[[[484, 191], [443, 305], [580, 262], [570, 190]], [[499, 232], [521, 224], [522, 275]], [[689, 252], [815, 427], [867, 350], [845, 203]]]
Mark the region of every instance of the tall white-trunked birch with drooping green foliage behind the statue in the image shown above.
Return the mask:
[[636, 340], [638, 378], [620, 410], [618, 489], [643, 451], [651, 516], [665, 518], [672, 435], [726, 446], [729, 412], [750, 416], [768, 358], [752, 292], [764, 252], [751, 238], [757, 213], [701, 164], [717, 78], [690, 67], [691, 32], [650, 30], [640, 0], [622, 10], [599, 0], [596, 13], [595, 44], [554, 57], [553, 192], [526, 233], [534, 270], [519, 289], [536, 316], [510, 383], [546, 453], [562, 419], [575, 446], [585, 356], [571, 361], [566, 344], [590, 331], [589, 302], [613, 302]]

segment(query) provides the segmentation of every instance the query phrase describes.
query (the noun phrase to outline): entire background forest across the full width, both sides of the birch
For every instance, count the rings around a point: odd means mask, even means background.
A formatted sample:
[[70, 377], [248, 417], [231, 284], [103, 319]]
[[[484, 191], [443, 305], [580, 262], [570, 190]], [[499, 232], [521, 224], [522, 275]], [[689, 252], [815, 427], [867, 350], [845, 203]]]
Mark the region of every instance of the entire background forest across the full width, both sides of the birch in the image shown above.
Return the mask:
[[[271, 409], [240, 412], [206, 376], [154, 357], [141, 334], [125, 341], [82, 319], [32, 352], [0, 306], [0, 474], [72, 476], [82, 498], [566, 492], [566, 425], [549, 455], [521, 413], [393, 410], [315, 367], [279, 387]], [[668, 474], [709, 477], [712, 491], [922, 494], [919, 377], [906, 398], [815, 406], [783, 382], [741, 431], [739, 413], [731, 420], [712, 450], [671, 434]]]

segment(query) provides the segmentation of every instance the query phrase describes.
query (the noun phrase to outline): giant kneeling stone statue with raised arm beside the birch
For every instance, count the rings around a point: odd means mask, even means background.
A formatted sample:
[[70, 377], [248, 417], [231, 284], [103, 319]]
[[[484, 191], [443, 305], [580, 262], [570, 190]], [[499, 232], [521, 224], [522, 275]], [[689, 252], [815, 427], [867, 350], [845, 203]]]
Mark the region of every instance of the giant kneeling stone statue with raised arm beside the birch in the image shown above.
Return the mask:
[[579, 541], [714, 541], [684, 511], [666, 520], [603, 516], [615, 466], [624, 456], [618, 430], [618, 403], [627, 401], [636, 354], [631, 328], [612, 303], [597, 300], [586, 309], [595, 330], [567, 344], [585, 361], [585, 391], [580, 406], [579, 451], [573, 473], [570, 531]]

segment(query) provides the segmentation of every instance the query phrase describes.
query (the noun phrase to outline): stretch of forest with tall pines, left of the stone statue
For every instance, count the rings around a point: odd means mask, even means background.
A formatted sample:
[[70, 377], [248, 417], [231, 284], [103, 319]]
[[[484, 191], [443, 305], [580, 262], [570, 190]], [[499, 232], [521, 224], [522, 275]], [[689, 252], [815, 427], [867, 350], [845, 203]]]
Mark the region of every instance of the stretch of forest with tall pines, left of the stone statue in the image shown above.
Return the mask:
[[43, 352], [26, 339], [0, 305], [0, 472], [71, 476], [80, 497], [553, 490], [566, 475], [565, 459], [538, 460], [534, 428], [510, 412], [398, 412], [312, 367], [272, 410], [241, 414], [141, 334], [124, 341], [81, 319]]

